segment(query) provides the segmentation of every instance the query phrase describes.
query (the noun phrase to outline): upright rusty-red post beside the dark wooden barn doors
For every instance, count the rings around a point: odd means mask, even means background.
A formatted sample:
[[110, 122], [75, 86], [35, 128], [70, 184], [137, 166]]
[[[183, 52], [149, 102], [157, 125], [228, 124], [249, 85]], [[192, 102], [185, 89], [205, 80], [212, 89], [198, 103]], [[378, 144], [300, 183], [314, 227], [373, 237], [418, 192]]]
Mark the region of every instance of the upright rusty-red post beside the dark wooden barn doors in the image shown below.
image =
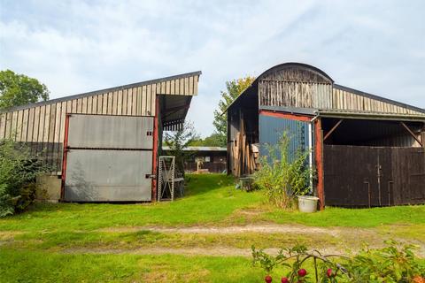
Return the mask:
[[325, 190], [324, 190], [324, 172], [323, 172], [323, 131], [321, 129], [321, 119], [314, 122], [314, 142], [315, 142], [315, 162], [317, 170], [317, 196], [321, 210], [325, 209]]

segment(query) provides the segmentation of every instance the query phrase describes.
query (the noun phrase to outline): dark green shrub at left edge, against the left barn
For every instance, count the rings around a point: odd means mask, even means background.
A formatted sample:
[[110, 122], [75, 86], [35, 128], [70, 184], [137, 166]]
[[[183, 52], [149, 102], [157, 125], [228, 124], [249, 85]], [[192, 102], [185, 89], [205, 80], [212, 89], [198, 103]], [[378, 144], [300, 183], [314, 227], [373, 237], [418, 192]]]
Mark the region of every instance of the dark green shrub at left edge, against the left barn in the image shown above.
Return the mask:
[[25, 210], [34, 202], [35, 178], [48, 167], [32, 157], [25, 144], [0, 142], [0, 217]]

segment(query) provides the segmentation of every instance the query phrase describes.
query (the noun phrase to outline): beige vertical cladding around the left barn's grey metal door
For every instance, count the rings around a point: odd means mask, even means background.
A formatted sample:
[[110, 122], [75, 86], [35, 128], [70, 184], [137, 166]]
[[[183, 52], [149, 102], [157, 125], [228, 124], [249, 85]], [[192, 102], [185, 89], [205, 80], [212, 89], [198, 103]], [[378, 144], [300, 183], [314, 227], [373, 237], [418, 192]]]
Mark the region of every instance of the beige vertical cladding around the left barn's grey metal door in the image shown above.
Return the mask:
[[67, 113], [155, 116], [157, 95], [197, 95], [199, 73], [23, 105], [0, 113], [0, 139], [27, 142], [53, 172], [62, 167]]

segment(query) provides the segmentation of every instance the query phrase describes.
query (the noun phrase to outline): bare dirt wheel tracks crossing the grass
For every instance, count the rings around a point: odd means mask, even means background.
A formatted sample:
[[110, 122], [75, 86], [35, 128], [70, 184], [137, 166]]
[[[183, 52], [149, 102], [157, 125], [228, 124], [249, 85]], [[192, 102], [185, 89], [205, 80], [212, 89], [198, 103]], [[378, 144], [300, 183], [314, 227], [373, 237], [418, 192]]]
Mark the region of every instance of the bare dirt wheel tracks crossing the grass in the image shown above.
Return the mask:
[[[163, 227], [163, 226], [139, 226], [139, 227], [109, 227], [101, 229], [102, 232], [128, 233], [137, 231], [152, 231], [158, 233], [201, 233], [201, 234], [238, 234], [238, 233], [286, 233], [314, 236], [325, 234], [340, 240], [339, 245], [321, 249], [324, 253], [345, 254], [347, 249], [356, 249], [360, 242], [367, 241], [370, 248], [382, 248], [386, 239], [379, 234], [375, 228], [353, 228], [353, 227], [311, 227], [301, 225], [276, 225], [259, 224], [247, 226], [190, 226], [190, 227]], [[425, 256], [424, 241], [406, 241], [395, 239], [400, 242], [414, 243], [420, 246], [419, 256]], [[314, 247], [309, 247], [314, 249]], [[266, 249], [268, 253], [276, 254], [278, 248], [270, 247]], [[65, 252], [77, 253], [116, 253], [116, 254], [136, 254], [136, 255], [158, 255], [158, 254], [178, 254], [178, 255], [199, 255], [199, 256], [251, 256], [251, 249], [239, 249], [234, 247], [211, 247], [211, 248], [162, 248], [152, 247], [143, 249], [69, 249]]]

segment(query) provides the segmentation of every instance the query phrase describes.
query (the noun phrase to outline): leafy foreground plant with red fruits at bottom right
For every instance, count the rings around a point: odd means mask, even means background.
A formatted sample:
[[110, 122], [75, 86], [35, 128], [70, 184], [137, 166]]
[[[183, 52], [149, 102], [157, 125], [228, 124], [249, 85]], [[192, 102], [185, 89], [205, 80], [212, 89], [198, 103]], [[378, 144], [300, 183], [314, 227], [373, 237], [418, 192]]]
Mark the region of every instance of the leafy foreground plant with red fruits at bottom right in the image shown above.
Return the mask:
[[[425, 264], [415, 256], [413, 245], [401, 246], [386, 241], [383, 249], [361, 249], [355, 256], [324, 255], [305, 246], [281, 249], [271, 256], [262, 249], [252, 247], [252, 264], [261, 266], [267, 276], [274, 267], [283, 266], [286, 274], [282, 283], [335, 283], [335, 282], [414, 282], [425, 283]], [[278, 282], [279, 279], [274, 279]]]

